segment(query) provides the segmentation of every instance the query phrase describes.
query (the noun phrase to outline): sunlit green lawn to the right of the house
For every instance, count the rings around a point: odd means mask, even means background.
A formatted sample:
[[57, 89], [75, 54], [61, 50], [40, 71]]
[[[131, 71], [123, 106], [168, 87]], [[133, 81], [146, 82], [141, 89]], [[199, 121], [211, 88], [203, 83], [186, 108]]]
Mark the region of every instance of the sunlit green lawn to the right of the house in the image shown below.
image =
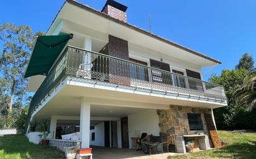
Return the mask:
[[224, 140], [229, 144], [226, 147], [179, 155], [175, 159], [212, 159], [212, 158], [256, 158], [256, 132], [244, 134], [234, 134], [227, 131], [218, 131], [220, 140]]

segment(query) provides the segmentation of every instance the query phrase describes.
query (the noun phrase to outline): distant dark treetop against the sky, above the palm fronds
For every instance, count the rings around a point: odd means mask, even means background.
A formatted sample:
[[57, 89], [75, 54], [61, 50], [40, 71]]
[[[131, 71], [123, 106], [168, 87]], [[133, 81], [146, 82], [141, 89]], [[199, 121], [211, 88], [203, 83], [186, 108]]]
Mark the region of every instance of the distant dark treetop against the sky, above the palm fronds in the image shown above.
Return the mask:
[[235, 66], [235, 69], [237, 70], [241, 68], [247, 69], [249, 72], [254, 71], [254, 59], [249, 53], [243, 54], [242, 58], [239, 59], [239, 63]]

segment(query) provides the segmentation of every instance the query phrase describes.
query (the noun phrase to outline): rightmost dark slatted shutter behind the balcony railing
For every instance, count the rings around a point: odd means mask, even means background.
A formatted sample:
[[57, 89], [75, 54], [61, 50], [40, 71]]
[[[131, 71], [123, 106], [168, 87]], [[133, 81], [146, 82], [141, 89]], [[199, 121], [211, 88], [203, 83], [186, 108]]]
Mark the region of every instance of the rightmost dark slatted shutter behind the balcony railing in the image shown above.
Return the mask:
[[[191, 71], [189, 69], [186, 69], [186, 76], [201, 80], [201, 75], [199, 72]], [[193, 90], [204, 91], [203, 83], [199, 80], [194, 79], [188, 79], [188, 85], [190, 86], [190, 88]]]

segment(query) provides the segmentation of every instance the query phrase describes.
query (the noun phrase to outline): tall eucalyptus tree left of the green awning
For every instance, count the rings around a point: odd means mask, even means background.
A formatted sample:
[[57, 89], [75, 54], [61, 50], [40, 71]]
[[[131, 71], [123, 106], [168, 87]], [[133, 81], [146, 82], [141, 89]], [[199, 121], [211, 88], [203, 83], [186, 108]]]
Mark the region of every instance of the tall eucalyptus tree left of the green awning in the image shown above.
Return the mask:
[[25, 67], [37, 35], [28, 26], [0, 25], [0, 129], [22, 129], [30, 97], [25, 93]]

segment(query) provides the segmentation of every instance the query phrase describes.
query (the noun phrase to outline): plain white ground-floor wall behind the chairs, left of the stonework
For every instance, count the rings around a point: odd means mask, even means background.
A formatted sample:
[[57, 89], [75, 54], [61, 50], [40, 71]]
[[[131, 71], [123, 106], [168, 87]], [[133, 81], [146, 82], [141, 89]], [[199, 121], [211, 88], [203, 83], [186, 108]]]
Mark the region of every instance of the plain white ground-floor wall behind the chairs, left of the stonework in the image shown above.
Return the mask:
[[140, 135], [143, 132], [159, 135], [160, 128], [158, 127], [158, 122], [157, 110], [144, 110], [139, 113], [130, 114], [128, 116], [129, 148], [132, 148], [132, 140], [130, 137], [137, 137], [138, 131]]

